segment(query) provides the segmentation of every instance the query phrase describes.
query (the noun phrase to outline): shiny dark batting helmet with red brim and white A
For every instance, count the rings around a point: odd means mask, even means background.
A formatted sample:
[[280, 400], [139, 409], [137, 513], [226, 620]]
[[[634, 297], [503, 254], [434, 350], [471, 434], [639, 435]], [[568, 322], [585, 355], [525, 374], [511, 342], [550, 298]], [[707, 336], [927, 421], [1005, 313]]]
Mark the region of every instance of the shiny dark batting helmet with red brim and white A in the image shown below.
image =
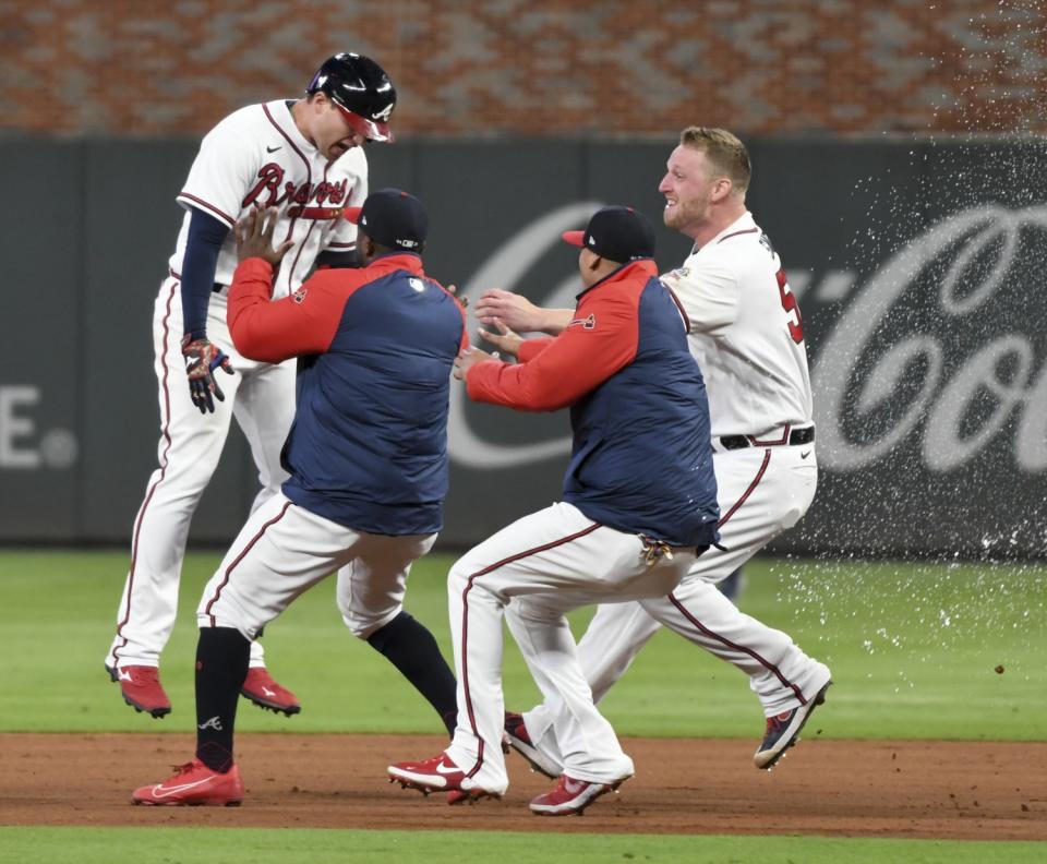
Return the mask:
[[325, 94], [349, 125], [371, 141], [393, 141], [389, 117], [396, 107], [396, 87], [370, 57], [342, 52], [325, 60], [305, 93]]

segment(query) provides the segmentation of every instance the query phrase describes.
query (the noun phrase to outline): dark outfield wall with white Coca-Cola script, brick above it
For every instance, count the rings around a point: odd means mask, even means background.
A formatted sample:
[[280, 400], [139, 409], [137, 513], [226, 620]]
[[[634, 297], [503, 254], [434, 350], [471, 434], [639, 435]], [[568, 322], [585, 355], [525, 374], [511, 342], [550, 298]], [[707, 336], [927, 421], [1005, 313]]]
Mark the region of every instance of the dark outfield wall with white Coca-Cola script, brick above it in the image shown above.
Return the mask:
[[[558, 233], [601, 203], [657, 218], [679, 129], [737, 132], [818, 404], [821, 489], [778, 549], [1047, 553], [1037, 4], [3, 7], [0, 540], [128, 539], [158, 439], [152, 305], [198, 139], [345, 48], [400, 94], [372, 188], [428, 204], [429, 272], [472, 298], [570, 303]], [[663, 268], [686, 252], [662, 231]], [[461, 547], [556, 496], [567, 429], [453, 401], [442, 541]], [[229, 449], [193, 542], [226, 542], [253, 496], [238, 433]]]

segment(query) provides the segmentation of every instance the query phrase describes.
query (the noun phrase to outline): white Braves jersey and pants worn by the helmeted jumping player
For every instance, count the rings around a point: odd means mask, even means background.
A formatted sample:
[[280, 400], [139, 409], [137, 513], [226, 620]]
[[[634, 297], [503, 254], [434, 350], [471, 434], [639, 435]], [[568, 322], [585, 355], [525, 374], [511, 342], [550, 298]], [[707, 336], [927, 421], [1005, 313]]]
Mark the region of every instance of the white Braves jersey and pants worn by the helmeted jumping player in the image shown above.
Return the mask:
[[[252, 361], [236, 351], [226, 323], [226, 291], [208, 297], [207, 333], [229, 355], [237, 374], [216, 371], [226, 399], [215, 401], [214, 413], [201, 415], [190, 399], [179, 344], [183, 332], [180, 280], [190, 208], [196, 207], [231, 229], [250, 208], [275, 207], [274, 241], [294, 240], [275, 279], [274, 296], [282, 297], [297, 290], [321, 251], [356, 248], [357, 227], [340, 217], [341, 211], [358, 206], [366, 194], [363, 152], [353, 147], [328, 164], [298, 130], [282, 99], [234, 111], [201, 143], [177, 199], [186, 213], [170, 259], [171, 276], [160, 286], [155, 305], [159, 465], [134, 523], [131, 568], [117, 610], [117, 635], [106, 656], [107, 667], [158, 665], [174, 626], [190, 521], [218, 466], [234, 413], [262, 484], [252, 511], [277, 494], [287, 479], [280, 448], [294, 416], [294, 363]], [[218, 256], [215, 283], [228, 286], [236, 267], [236, 236], [230, 230]], [[251, 665], [262, 664], [262, 647], [254, 641]]]

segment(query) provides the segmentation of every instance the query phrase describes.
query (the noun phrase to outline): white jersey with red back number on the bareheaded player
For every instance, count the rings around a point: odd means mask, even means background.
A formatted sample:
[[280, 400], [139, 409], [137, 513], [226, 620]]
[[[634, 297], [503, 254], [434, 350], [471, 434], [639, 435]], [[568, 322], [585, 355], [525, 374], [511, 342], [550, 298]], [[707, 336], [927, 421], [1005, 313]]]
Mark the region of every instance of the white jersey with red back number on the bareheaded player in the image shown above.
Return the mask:
[[713, 437], [813, 422], [804, 324], [778, 254], [753, 214], [666, 273], [690, 319]]

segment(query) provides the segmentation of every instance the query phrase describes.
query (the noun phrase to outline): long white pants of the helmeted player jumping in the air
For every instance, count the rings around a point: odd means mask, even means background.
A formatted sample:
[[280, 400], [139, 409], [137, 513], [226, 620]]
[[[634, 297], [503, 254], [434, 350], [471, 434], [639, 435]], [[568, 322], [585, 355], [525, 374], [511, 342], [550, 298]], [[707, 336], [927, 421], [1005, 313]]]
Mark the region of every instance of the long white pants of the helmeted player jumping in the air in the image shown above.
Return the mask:
[[[117, 610], [117, 635], [106, 665], [159, 665], [159, 656], [174, 626], [178, 585], [189, 526], [221, 456], [233, 417], [243, 430], [261, 490], [252, 512], [279, 491], [287, 479], [280, 448], [294, 417], [292, 361], [274, 365], [241, 357], [226, 324], [226, 292], [213, 293], [207, 336], [225, 351], [234, 375], [215, 371], [225, 401], [202, 415], [193, 405], [181, 350], [181, 284], [173, 277], [160, 286], [153, 319], [153, 347], [160, 403], [159, 467], [134, 520], [131, 568]], [[251, 665], [264, 665], [262, 646], [251, 646]]]

